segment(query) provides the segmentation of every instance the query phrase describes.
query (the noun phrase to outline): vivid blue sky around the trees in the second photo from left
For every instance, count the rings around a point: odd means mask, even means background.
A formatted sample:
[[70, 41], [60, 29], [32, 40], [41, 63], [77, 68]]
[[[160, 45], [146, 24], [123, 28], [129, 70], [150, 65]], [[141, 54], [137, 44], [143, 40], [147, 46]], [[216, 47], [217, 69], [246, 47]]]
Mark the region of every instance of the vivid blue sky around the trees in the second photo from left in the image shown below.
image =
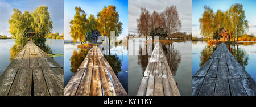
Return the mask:
[[64, 1], [64, 37], [65, 40], [72, 40], [70, 36], [70, 24], [69, 22], [73, 19], [75, 15], [75, 7], [80, 6], [82, 10], [87, 14], [87, 18], [90, 14], [97, 17], [98, 12], [102, 10], [104, 6], [114, 5], [117, 7], [117, 12], [119, 14], [119, 21], [123, 23], [122, 33], [119, 35], [118, 39], [123, 38], [128, 35], [128, 1], [127, 0], [74, 0]]

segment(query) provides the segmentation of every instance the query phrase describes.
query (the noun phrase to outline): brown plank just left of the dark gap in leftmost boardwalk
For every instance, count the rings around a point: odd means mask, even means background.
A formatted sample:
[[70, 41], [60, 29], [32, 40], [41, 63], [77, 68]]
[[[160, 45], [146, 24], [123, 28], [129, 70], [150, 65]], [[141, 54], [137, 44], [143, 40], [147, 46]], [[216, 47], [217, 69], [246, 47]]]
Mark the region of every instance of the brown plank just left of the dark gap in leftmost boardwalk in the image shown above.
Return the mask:
[[9, 92], [9, 96], [31, 96], [32, 70], [19, 69], [13, 85]]

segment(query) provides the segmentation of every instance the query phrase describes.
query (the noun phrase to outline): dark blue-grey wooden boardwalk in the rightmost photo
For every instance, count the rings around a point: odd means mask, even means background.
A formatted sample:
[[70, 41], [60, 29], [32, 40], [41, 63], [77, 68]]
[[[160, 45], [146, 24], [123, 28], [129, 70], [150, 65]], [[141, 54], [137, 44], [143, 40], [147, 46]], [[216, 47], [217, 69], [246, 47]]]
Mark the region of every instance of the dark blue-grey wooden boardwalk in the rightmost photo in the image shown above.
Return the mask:
[[255, 96], [256, 83], [222, 43], [192, 76], [192, 95]]

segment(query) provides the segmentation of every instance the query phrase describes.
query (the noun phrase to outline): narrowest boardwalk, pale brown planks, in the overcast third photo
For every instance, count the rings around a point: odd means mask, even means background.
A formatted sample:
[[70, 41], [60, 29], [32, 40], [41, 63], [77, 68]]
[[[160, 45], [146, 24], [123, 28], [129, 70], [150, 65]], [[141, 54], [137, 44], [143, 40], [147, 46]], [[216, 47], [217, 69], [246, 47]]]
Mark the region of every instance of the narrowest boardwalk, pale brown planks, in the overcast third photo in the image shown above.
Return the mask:
[[180, 96], [162, 46], [155, 44], [137, 96]]

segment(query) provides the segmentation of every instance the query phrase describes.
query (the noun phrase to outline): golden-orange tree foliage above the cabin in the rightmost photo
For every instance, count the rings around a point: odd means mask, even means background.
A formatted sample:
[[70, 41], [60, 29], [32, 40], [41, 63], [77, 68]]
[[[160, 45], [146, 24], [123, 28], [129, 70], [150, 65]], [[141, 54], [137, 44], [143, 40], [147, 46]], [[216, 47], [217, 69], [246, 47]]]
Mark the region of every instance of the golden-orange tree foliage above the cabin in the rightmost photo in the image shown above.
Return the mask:
[[215, 13], [210, 7], [204, 6], [204, 13], [199, 22], [201, 35], [208, 38], [210, 42], [217, 38], [216, 31], [220, 28], [226, 28], [231, 33], [234, 41], [245, 34], [248, 28], [243, 5], [238, 3], [230, 6], [227, 11], [217, 10]]

